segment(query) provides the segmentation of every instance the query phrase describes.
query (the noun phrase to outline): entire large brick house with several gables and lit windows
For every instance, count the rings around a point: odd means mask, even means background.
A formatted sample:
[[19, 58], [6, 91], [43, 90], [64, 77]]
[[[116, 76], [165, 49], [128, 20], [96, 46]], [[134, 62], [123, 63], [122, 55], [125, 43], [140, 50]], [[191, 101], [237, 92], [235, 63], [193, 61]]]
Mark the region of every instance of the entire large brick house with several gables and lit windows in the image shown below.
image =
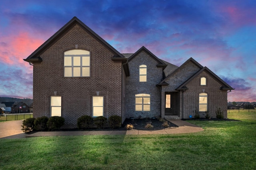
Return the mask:
[[146, 47], [121, 54], [76, 17], [24, 61], [33, 65], [33, 116], [62, 116], [66, 127], [82, 115], [216, 117], [217, 107], [226, 118], [233, 90], [192, 58], [178, 67]]

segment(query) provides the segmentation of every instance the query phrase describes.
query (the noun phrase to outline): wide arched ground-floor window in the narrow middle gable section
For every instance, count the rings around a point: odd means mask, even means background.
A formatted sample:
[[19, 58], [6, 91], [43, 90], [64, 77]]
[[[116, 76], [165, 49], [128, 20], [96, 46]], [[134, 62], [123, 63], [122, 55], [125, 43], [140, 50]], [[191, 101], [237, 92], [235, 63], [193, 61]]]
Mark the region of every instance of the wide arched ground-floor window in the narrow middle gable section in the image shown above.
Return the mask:
[[135, 94], [135, 111], [150, 111], [150, 94]]

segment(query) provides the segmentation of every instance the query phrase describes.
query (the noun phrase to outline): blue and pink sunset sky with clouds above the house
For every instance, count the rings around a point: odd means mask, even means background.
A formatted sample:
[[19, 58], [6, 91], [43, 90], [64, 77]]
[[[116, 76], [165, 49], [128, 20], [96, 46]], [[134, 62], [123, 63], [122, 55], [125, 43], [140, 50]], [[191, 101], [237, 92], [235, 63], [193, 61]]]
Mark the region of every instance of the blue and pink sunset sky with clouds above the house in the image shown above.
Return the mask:
[[228, 102], [256, 102], [256, 0], [1, 0], [0, 97], [33, 98], [23, 59], [74, 16], [120, 53], [192, 57], [235, 88]]

